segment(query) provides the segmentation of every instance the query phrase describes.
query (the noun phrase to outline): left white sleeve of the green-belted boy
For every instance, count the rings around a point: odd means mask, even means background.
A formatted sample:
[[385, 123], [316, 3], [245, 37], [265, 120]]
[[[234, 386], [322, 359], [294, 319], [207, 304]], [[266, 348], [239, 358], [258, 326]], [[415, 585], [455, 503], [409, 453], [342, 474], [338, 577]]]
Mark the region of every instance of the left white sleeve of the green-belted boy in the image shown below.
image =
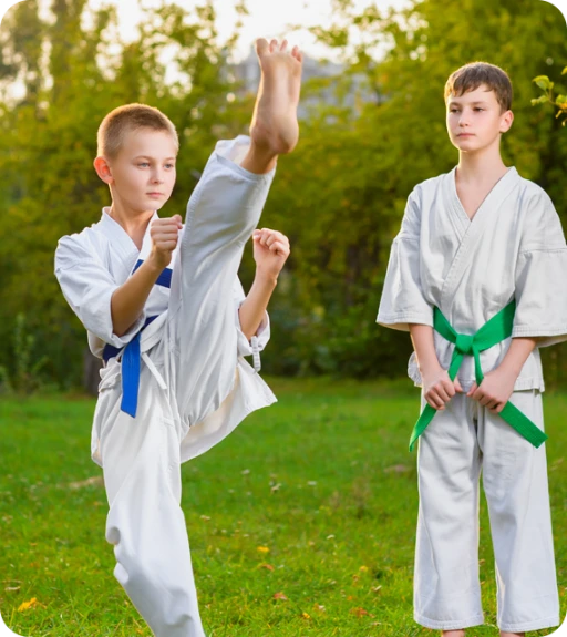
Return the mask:
[[421, 288], [421, 206], [417, 191], [408, 198], [402, 227], [392, 243], [377, 322], [409, 331], [409, 323], [433, 326], [433, 307]]

